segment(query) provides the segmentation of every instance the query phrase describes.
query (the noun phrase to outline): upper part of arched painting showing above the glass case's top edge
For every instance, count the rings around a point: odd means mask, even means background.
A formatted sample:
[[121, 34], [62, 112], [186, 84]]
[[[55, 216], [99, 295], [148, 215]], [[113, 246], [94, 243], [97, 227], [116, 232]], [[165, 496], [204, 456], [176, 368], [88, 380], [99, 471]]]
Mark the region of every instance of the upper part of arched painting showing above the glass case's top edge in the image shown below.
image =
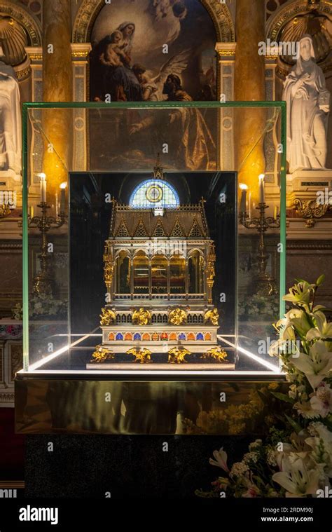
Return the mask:
[[198, 0], [106, 4], [91, 41], [92, 101], [216, 100], [216, 32]]

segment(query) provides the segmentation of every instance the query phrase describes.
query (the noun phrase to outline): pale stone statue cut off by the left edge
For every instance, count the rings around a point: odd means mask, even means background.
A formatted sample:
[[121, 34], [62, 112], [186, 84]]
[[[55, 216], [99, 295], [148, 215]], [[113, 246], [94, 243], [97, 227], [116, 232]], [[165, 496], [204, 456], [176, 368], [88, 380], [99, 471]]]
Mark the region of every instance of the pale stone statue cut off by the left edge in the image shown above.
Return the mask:
[[0, 171], [21, 171], [20, 89], [0, 46]]

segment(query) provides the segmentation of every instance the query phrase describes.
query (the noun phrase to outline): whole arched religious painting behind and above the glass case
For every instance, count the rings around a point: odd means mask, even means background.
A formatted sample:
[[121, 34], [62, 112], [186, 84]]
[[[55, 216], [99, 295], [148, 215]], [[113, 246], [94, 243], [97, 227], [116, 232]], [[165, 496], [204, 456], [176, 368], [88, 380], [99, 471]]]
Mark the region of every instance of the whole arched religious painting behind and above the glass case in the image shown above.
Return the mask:
[[[92, 28], [90, 100], [216, 100], [216, 31], [198, 0], [119, 0]], [[90, 168], [216, 169], [216, 111], [90, 111]], [[165, 148], [165, 146], [167, 146]]]

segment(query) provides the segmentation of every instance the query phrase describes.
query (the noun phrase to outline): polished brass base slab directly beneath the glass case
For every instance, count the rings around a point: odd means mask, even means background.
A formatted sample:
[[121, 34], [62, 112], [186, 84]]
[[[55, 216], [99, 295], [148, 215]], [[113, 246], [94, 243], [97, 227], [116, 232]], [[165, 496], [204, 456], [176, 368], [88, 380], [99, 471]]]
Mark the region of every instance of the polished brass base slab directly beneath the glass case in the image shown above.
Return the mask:
[[[272, 386], [285, 393], [289, 386], [283, 376], [275, 374], [262, 378], [232, 376], [228, 372], [191, 381], [178, 372], [170, 372], [169, 379], [137, 373], [137, 380], [130, 381], [125, 375], [118, 380], [109, 376], [108, 380], [102, 380], [102, 376], [88, 380], [81, 376], [74, 379], [53, 374], [36, 378], [33, 374], [18, 374], [15, 430], [20, 434], [229, 435], [233, 430], [237, 430], [237, 435], [260, 434], [262, 416], [269, 415], [268, 407], [266, 414], [258, 412], [252, 418], [246, 414], [248, 419], [242, 425], [237, 419], [232, 423], [232, 412], [251, 412], [256, 404], [252, 400], [256, 389], [266, 393]], [[256, 393], [255, 397], [259, 404], [260, 395]]]

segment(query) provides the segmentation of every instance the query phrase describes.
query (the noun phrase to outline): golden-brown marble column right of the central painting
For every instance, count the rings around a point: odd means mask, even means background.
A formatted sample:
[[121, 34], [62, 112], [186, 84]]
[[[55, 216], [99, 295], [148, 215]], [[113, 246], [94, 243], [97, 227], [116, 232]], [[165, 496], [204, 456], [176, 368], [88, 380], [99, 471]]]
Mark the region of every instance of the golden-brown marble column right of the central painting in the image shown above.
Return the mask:
[[[237, 0], [236, 32], [235, 100], [265, 100], [265, 56], [258, 55], [258, 43], [265, 41], [262, 0]], [[250, 187], [251, 200], [255, 203], [258, 201], [258, 175], [265, 171], [263, 137], [258, 141], [265, 127], [265, 116], [265, 109], [235, 109], [238, 179]]]

